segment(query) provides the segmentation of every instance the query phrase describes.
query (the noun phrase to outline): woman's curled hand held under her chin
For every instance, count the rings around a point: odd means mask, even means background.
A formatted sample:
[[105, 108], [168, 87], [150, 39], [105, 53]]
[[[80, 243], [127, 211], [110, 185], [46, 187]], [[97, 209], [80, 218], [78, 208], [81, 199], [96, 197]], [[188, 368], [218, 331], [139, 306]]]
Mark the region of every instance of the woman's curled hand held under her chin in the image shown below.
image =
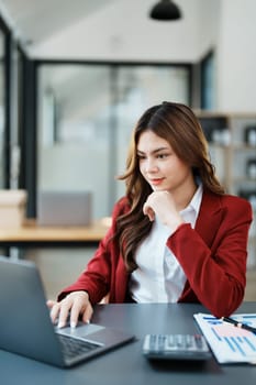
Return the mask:
[[151, 221], [154, 221], [155, 215], [157, 215], [162, 223], [168, 226], [172, 231], [183, 223], [175, 201], [168, 191], [152, 193], [143, 206], [143, 212], [145, 216], [148, 216]]

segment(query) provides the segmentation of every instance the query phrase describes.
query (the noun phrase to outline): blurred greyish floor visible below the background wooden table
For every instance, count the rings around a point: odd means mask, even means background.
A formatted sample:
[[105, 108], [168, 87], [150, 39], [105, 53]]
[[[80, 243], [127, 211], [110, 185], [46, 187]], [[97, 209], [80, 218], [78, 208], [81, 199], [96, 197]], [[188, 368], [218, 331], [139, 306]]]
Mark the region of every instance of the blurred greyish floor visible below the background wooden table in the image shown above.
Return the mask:
[[[93, 254], [94, 249], [30, 251], [25, 257], [35, 261], [45, 286], [47, 298], [73, 283]], [[256, 300], [256, 267], [247, 271], [245, 300]]]

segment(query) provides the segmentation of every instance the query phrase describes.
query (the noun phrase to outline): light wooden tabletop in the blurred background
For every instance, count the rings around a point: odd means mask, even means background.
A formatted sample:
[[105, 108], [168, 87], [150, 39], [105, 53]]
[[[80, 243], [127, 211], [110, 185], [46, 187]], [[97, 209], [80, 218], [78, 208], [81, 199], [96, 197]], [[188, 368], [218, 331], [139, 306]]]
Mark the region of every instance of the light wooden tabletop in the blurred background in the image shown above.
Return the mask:
[[89, 227], [38, 227], [34, 220], [27, 220], [20, 228], [0, 228], [0, 246], [99, 242], [108, 228], [109, 222], [103, 220]]

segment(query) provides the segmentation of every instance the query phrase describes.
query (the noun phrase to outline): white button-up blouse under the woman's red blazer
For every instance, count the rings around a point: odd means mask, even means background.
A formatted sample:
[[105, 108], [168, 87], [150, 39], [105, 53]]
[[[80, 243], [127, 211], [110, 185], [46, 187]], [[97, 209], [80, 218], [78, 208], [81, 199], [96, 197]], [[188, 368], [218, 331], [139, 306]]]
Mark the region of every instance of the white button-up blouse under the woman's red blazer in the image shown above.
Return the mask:
[[[202, 185], [190, 204], [180, 211], [185, 222], [194, 228], [202, 200]], [[149, 235], [138, 245], [137, 268], [130, 279], [130, 295], [136, 302], [177, 302], [186, 283], [186, 275], [166, 242], [171, 230], [155, 218]]]

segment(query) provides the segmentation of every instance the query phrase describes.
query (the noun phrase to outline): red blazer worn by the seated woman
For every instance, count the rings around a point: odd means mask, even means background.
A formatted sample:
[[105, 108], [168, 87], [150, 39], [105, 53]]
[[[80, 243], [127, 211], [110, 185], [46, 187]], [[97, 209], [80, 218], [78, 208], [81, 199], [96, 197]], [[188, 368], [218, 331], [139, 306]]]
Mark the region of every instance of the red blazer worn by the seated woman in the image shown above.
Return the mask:
[[[127, 210], [125, 198], [116, 202], [112, 226], [86, 271], [60, 293], [58, 300], [70, 292], [86, 290], [91, 304], [107, 294], [110, 302], [125, 301], [129, 274], [118, 242], [108, 240], [115, 232], [116, 217]], [[229, 316], [241, 305], [252, 220], [252, 207], [245, 199], [203, 193], [194, 230], [183, 223], [167, 240], [187, 276], [179, 302], [201, 302], [216, 317]]]

